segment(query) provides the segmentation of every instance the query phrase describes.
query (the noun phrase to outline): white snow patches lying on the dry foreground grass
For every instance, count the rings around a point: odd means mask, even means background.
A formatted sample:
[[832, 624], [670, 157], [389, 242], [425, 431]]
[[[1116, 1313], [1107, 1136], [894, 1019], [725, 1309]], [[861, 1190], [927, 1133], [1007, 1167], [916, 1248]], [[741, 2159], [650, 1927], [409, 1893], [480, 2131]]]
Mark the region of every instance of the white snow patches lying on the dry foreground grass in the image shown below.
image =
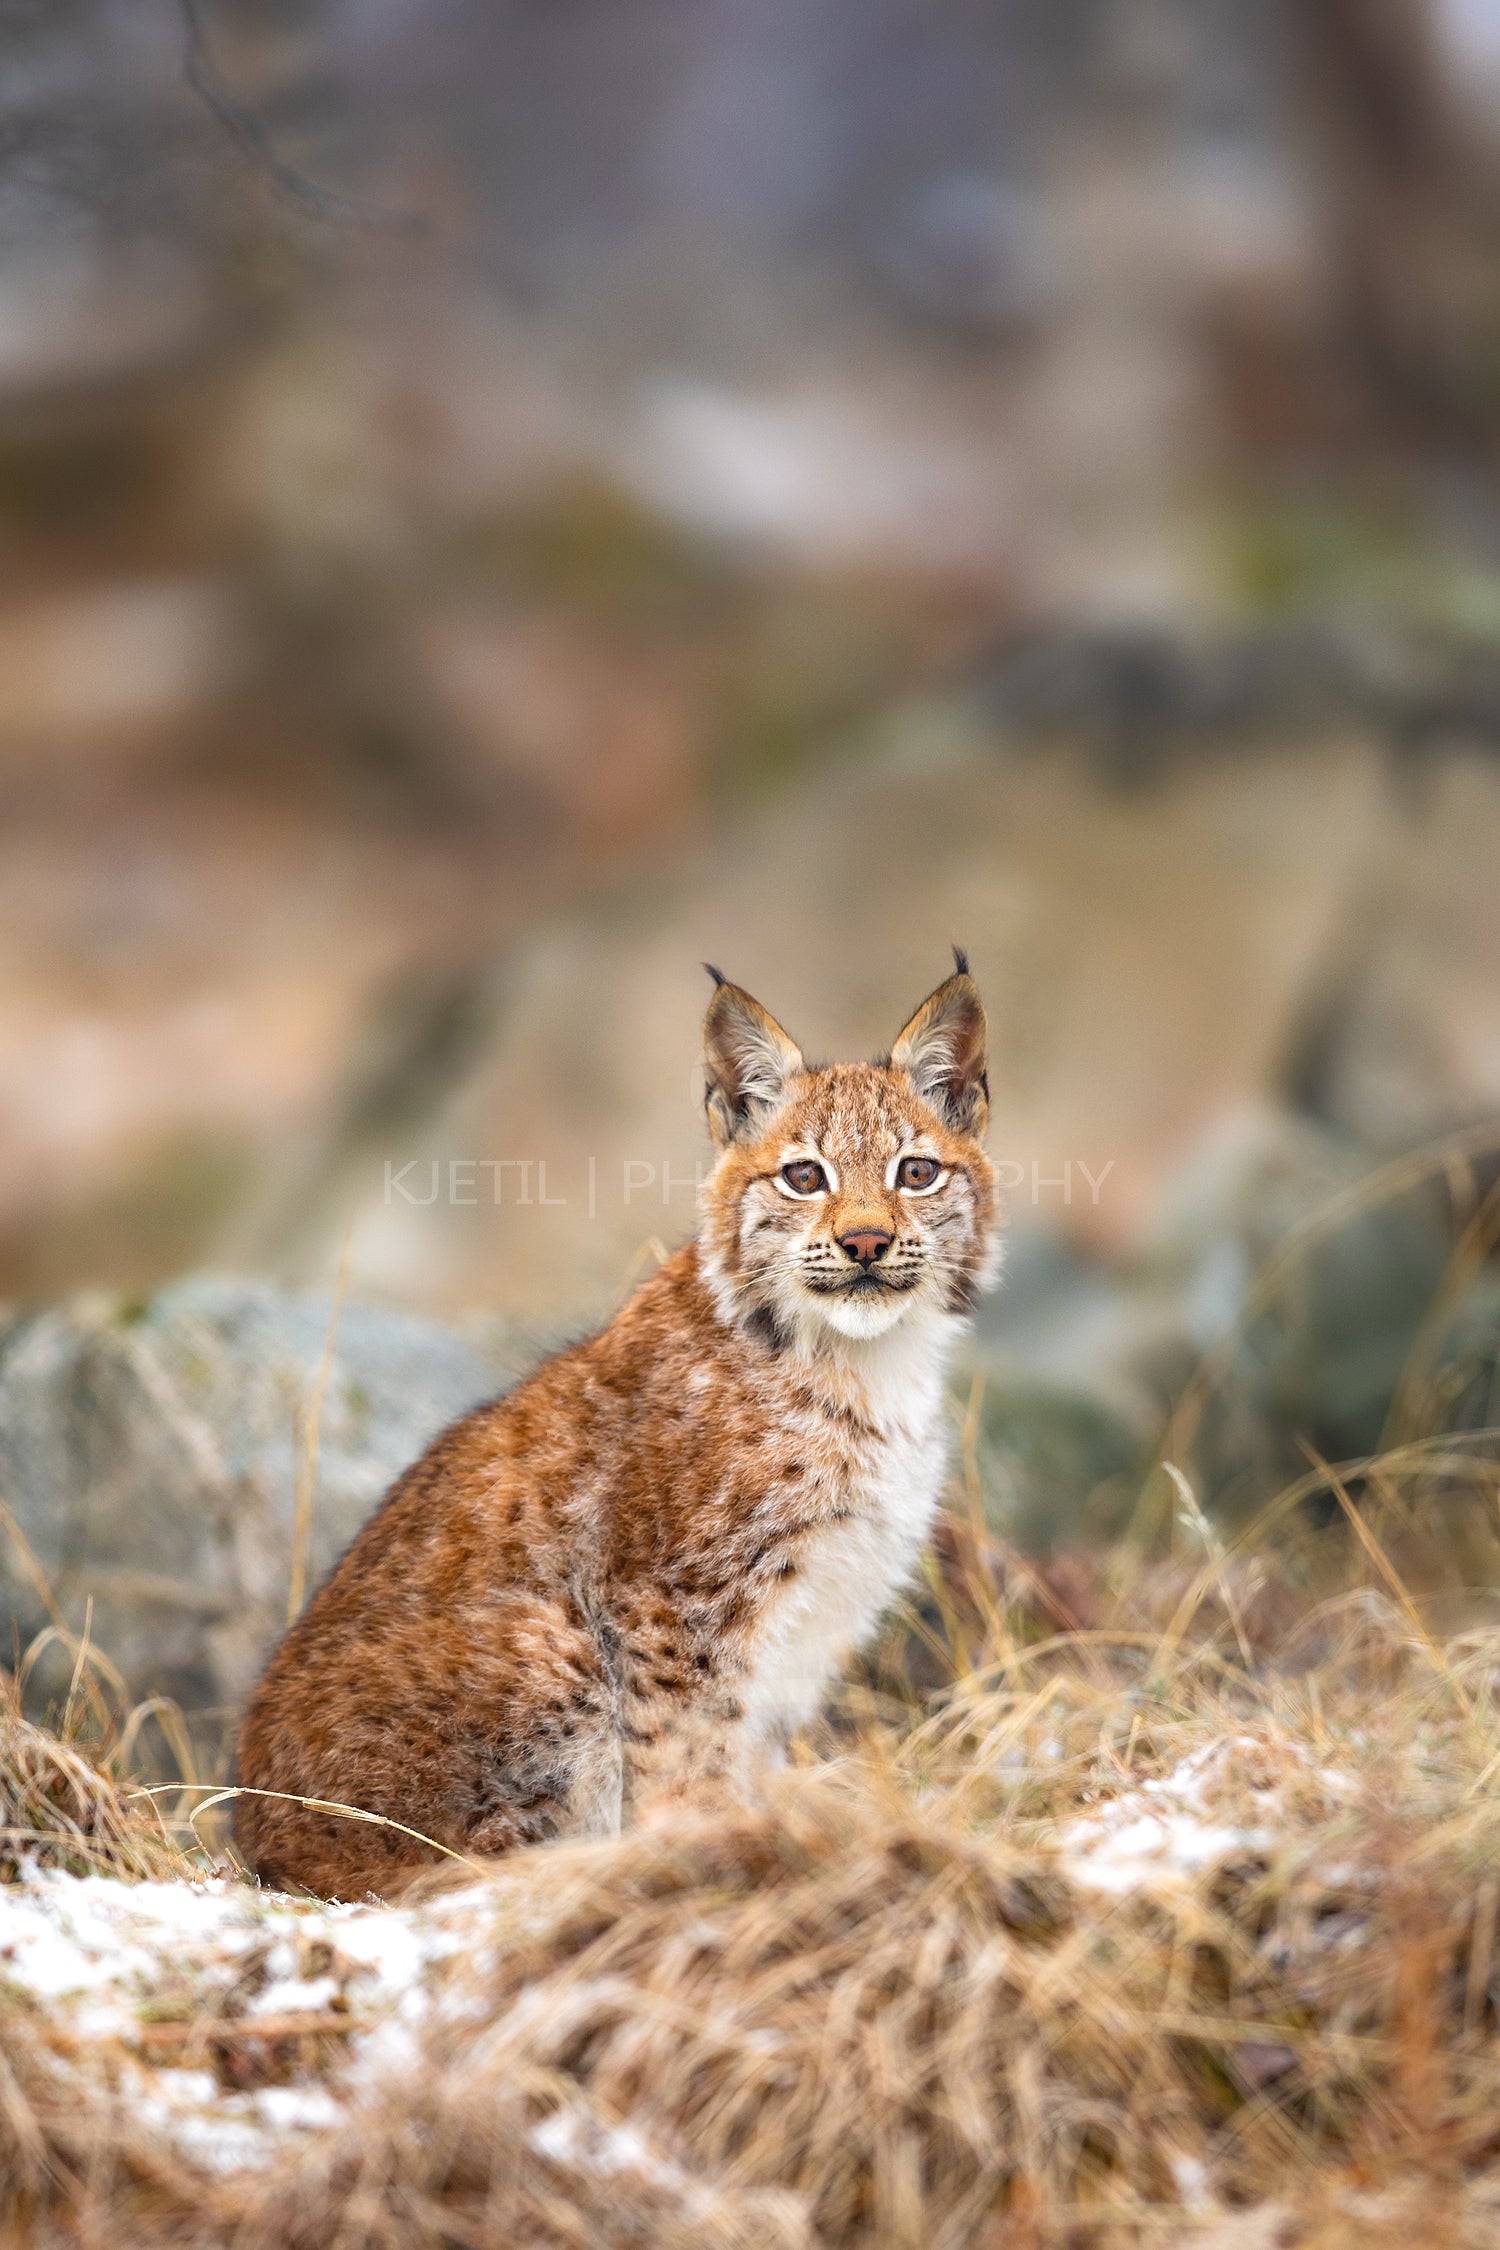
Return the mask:
[[[1181, 1888], [1264, 1861], [1298, 1825], [1293, 1800], [1311, 1791], [1327, 1807], [1345, 1789], [1284, 1746], [1271, 1755], [1253, 1735], [1226, 1735], [1075, 1807], [1050, 1840], [1079, 1892]], [[324, 1906], [225, 1876], [130, 1883], [22, 1865], [0, 1886], [0, 2009], [45, 2018], [76, 2068], [108, 2056], [153, 2135], [232, 2174], [400, 2081], [434, 2025], [470, 2023], [501, 1930], [517, 1935], [501, 1897], [486, 1881], [412, 1906]], [[596, 1998], [589, 1984], [519, 1994], [488, 2038], [524, 2041], [528, 2002], [558, 2018], [587, 2016]], [[594, 2135], [567, 2108], [535, 2131], [553, 2160], [585, 2160], [573, 2138]], [[645, 2142], [589, 2138], [587, 2162], [650, 2174], [659, 2158]]]

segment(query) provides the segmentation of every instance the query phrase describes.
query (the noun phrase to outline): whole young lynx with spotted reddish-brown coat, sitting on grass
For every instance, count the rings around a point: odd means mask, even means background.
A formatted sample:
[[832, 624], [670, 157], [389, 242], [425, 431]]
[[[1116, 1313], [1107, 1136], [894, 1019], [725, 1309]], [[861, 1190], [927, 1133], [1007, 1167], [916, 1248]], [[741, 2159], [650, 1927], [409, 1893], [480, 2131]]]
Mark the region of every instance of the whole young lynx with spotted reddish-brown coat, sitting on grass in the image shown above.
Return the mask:
[[[942, 1375], [999, 1262], [963, 954], [879, 1062], [803, 1062], [717, 970], [702, 1228], [394, 1485], [238, 1742], [261, 1879], [391, 1890], [778, 1755], [927, 1537]], [[283, 1796], [274, 1796], [281, 1791]]]

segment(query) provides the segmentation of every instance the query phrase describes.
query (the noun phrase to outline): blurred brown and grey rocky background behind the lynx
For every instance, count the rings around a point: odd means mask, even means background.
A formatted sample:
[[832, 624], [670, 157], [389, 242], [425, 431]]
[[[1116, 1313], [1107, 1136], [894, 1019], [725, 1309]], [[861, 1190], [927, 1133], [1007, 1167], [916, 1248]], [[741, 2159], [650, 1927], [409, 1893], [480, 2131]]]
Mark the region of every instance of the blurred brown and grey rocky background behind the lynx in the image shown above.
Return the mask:
[[1500, 0], [4, 0], [0, 61], [25, 1629], [229, 1699], [690, 1231], [704, 958], [861, 1053], [969, 947], [1007, 1537], [1115, 1526], [1205, 1352], [1230, 1516], [1500, 1420]]

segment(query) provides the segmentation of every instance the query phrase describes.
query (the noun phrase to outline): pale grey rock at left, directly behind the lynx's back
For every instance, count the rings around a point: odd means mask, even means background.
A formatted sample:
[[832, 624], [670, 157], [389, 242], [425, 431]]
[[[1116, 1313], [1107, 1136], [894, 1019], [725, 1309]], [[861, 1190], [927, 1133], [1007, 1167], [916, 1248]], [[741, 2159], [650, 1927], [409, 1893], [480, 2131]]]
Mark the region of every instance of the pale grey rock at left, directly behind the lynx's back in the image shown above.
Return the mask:
[[[328, 1323], [326, 1296], [191, 1278], [148, 1303], [79, 1298], [0, 1332], [7, 1660], [52, 1602], [81, 1634], [92, 1600], [90, 1640], [130, 1701], [166, 1694], [229, 1717], [286, 1624]], [[457, 1332], [344, 1305], [317, 1411], [308, 1591], [423, 1444], [531, 1357], [499, 1325]], [[65, 1692], [70, 1672], [72, 1652], [54, 1645], [31, 1701]]]

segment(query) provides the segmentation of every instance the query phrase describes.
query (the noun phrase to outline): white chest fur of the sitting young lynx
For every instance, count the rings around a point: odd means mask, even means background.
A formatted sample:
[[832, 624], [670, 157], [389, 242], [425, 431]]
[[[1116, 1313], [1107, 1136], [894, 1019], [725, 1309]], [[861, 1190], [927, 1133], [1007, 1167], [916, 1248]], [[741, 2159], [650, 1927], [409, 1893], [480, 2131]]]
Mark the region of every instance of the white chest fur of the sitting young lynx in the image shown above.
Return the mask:
[[848, 1514], [816, 1532], [767, 1611], [744, 1692], [756, 1735], [814, 1714], [837, 1667], [911, 1577], [947, 1467], [942, 1377], [951, 1323], [897, 1330], [848, 1352], [875, 1436], [859, 1449]]

